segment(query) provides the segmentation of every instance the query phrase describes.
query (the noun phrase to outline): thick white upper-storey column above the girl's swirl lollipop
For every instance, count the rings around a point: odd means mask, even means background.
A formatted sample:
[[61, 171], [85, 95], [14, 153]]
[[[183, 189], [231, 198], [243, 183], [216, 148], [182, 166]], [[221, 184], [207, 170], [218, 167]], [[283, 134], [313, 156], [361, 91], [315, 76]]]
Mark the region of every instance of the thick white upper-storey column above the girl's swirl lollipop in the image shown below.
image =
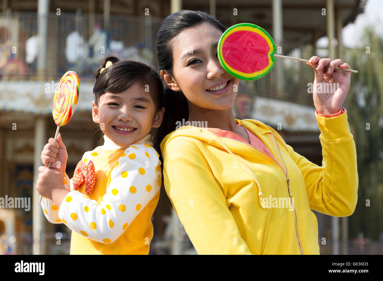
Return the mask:
[[39, 37], [39, 56], [37, 60], [38, 73], [41, 75], [46, 70], [47, 63], [47, 31], [49, 0], [38, 0], [37, 20]]

